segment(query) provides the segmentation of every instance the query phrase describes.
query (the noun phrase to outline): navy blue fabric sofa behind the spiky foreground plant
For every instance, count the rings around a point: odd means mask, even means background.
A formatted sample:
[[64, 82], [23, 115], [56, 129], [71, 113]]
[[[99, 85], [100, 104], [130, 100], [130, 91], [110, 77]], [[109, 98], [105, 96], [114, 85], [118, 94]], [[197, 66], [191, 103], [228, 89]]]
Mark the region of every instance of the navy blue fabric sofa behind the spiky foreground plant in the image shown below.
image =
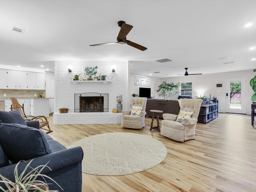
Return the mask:
[[[8, 112], [7, 112], [8, 113]], [[3, 115], [4, 114], [4, 115]], [[39, 165], [47, 164], [51, 170], [48, 168], [44, 168], [42, 174], [45, 174], [52, 178], [55, 182], [57, 182], [65, 192], [82, 192], [82, 159], [83, 159], [83, 151], [80, 147], [66, 149], [57, 141], [53, 140], [48, 134], [45, 134], [42, 130], [39, 130], [39, 122], [38, 121], [26, 121], [26, 125], [20, 124], [7, 124], [6, 120], [6, 113], [0, 111], [0, 134], [3, 134], [6, 127], [13, 128], [16, 131], [16, 128], [21, 127], [26, 131], [32, 131], [39, 133], [40, 136], [44, 139], [44, 142], [47, 141], [49, 150], [51, 151], [48, 154], [43, 156], [35, 157], [32, 163], [30, 164], [31, 167], [35, 168]], [[16, 115], [16, 114], [15, 114]], [[10, 121], [7, 120], [7, 122]], [[15, 121], [14, 121], [15, 122]], [[9, 122], [10, 123], [10, 122]], [[29, 126], [29, 127], [28, 127]], [[33, 127], [33, 128], [32, 128]], [[23, 137], [26, 133], [22, 132]], [[15, 140], [14, 136], [10, 140]], [[18, 137], [17, 137], [18, 138]], [[31, 138], [34, 140], [35, 138]], [[6, 141], [3, 143], [5, 138], [0, 136], [0, 174], [2, 176], [14, 181], [14, 168], [16, 163], [12, 163], [8, 158], [8, 152], [6, 150]], [[13, 146], [10, 146], [12, 148]], [[20, 150], [20, 149], [19, 149]], [[7, 153], [6, 153], [7, 152]], [[22, 151], [23, 152], [23, 151]], [[28, 149], [24, 148], [24, 153], [29, 152]], [[19, 151], [17, 151], [19, 153]], [[33, 158], [31, 158], [33, 159]], [[18, 166], [19, 174], [24, 170], [27, 162], [31, 159], [26, 159], [26, 162], [21, 162]], [[38, 178], [42, 180], [43, 178]], [[51, 180], [46, 179], [46, 183], [49, 185], [49, 190], [59, 190], [62, 191], [58, 185], [54, 184]], [[0, 184], [0, 186], [5, 188], [4, 184]]]

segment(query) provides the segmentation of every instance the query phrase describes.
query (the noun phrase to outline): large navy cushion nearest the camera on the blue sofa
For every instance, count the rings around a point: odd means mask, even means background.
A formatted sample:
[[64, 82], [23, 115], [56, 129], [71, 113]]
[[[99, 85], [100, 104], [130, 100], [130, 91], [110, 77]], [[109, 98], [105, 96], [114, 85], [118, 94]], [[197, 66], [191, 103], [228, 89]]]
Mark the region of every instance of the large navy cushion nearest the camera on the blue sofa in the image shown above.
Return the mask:
[[52, 153], [43, 131], [20, 124], [0, 124], [0, 145], [13, 163]]

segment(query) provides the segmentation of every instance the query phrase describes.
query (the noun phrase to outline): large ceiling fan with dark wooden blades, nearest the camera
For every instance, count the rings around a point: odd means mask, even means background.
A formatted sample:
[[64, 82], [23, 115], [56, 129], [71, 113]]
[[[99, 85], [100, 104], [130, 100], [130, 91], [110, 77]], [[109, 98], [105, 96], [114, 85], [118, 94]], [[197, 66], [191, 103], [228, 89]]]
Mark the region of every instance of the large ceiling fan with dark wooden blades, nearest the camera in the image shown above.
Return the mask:
[[126, 40], [126, 35], [130, 32], [130, 30], [132, 30], [133, 26], [132, 25], [129, 25], [129, 24], [126, 24], [124, 21], [118, 21], [117, 22], [118, 26], [121, 28], [120, 29], [120, 32], [117, 36], [117, 39], [116, 41], [117, 42], [110, 42], [110, 43], [100, 43], [100, 44], [94, 44], [94, 45], [90, 45], [90, 46], [99, 46], [99, 45], [108, 45], [108, 44], [128, 44], [136, 49], [139, 49], [139, 50], [146, 50], [147, 48], [144, 47], [144, 46], [141, 46], [139, 44], [136, 44], [134, 42], [131, 42], [129, 40]]

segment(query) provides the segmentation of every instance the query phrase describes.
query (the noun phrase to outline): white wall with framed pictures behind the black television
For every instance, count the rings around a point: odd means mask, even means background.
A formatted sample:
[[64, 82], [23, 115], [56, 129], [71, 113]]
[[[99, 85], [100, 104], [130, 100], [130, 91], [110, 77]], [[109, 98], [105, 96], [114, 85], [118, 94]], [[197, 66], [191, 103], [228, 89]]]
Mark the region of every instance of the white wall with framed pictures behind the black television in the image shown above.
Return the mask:
[[[145, 86], [135, 86], [134, 85], [134, 76], [140, 76], [140, 77], [146, 77], [149, 79], [149, 87]], [[140, 87], [145, 87], [145, 88], [151, 88], [151, 97], [158, 97], [158, 94], [156, 90], [158, 89], [158, 85], [161, 84], [161, 79], [152, 77], [152, 76], [144, 76], [144, 75], [139, 75], [139, 74], [130, 74], [130, 79], [129, 79], [129, 96], [132, 97], [132, 94], [139, 94], [139, 88]]]

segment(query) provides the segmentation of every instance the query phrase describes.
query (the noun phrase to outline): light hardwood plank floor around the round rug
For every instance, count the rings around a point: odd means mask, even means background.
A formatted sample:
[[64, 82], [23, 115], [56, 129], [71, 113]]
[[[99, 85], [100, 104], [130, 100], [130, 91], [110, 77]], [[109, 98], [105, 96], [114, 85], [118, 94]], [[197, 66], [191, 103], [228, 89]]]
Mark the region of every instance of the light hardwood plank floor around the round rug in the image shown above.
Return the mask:
[[[150, 131], [151, 118], [141, 130], [120, 124], [54, 125], [50, 136], [69, 146], [95, 134], [133, 132], [152, 136], [167, 148], [157, 166], [126, 176], [95, 176], [83, 173], [83, 192], [255, 192], [256, 126], [246, 115], [219, 114], [208, 124], [197, 124], [194, 140], [176, 142]], [[72, 157], [70, 157], [72, 158]], [[84, 156], [86, 158], [86, 156]]]

